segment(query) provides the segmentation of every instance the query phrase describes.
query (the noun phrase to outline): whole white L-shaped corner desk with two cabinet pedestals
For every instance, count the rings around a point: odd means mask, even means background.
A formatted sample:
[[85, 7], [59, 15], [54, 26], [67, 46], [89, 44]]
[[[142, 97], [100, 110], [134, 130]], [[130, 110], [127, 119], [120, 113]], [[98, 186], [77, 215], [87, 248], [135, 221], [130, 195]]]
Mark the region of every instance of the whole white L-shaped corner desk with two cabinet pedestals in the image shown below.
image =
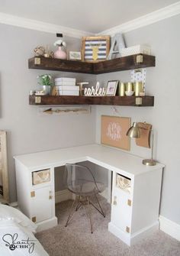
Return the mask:
[[[66, 163], [91, 161], [113, 171], [111, 222], [108, 229], [127, 245], [159, 228], [162, 164], [146, 167], [142, 158], [99, 144], [67, 147], [14, 157], [18, 205], [39, 230], [57, 224], [54, 168]], [[33, 185], [34, 171], [50, 169], [50, 181]], [[117, 187], [117, 174], [131, 180], [130, 192]]]

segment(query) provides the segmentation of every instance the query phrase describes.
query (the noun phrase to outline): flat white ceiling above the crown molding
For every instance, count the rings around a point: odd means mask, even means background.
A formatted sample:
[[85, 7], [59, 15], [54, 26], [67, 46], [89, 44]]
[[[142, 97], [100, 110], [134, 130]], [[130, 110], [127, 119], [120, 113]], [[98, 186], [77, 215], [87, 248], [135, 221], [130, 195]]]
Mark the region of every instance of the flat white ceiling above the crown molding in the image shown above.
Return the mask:
[[177, 0], [0, 0], [0, 12], [98, 33]]

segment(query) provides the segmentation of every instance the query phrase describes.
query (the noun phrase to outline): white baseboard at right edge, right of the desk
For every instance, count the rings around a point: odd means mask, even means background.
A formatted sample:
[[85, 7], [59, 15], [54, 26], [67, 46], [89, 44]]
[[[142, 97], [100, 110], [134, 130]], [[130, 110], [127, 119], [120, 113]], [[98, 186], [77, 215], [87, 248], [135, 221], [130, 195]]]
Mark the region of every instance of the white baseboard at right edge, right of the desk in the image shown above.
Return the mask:
[[180, 241], [180, 225], [159, 215], [160, 230]]

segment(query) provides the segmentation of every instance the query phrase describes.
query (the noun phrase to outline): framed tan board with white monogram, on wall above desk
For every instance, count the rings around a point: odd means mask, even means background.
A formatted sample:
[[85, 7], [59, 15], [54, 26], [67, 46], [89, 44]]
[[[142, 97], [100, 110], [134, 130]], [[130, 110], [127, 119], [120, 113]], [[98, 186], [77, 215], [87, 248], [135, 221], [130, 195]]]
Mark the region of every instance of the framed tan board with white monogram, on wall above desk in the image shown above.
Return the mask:
[[130, 118], [101, 115], [101, 144], [130, 151]]

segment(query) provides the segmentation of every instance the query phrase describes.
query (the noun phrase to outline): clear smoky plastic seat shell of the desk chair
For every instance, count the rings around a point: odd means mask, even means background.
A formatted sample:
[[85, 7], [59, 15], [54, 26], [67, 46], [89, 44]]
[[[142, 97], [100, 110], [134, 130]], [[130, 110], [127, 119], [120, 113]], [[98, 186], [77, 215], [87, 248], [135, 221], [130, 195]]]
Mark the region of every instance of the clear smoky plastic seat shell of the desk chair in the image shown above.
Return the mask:
[[89, 195], [98, 193], [98, 183], [88, 167], [79, 164], [65, 165], [65, 178], [68, 189], [77, 195]]

